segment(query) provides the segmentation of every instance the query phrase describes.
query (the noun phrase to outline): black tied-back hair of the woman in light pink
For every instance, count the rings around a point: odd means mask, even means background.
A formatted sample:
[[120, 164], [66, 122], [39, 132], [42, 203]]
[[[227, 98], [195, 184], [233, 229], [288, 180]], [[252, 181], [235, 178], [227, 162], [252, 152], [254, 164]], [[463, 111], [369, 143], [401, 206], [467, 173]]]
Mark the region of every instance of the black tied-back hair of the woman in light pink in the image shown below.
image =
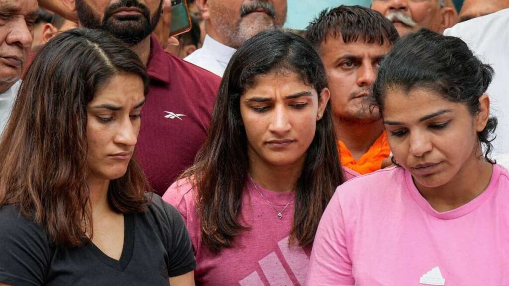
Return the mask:
[[[480, 62], [467, 44], [456, 37], [437, 34], [426, 28], [398, 41], [380, 65], [373, 85], [376, 105], [383, 116], [387, 90], [415, 88], [437, 91], [446, 100], [461, 102], [471, 115], [479, 112], [479, 97], [486, 93], [493, 78], [493, 69]], [[489, 118], [483, 131], [477, 132], [484, 147], [484, 158], [493, 150], [497, 119]]]

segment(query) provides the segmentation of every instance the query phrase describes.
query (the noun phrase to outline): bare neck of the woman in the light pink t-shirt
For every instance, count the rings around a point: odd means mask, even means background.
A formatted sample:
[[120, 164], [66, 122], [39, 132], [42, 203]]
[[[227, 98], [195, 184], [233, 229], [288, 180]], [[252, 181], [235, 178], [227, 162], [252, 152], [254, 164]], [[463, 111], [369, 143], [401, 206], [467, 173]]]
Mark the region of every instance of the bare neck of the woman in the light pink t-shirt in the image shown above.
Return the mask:
[[421, 195], [438, 212], [454, 210], [469, 203], [490, 184], [493, 165], [484, 159], [478, 159], [481, 154], [473, 152], [472, 155], [474, 156], [463, 164], [456, 176], [442, 186], [428, 188], [414, 180]]

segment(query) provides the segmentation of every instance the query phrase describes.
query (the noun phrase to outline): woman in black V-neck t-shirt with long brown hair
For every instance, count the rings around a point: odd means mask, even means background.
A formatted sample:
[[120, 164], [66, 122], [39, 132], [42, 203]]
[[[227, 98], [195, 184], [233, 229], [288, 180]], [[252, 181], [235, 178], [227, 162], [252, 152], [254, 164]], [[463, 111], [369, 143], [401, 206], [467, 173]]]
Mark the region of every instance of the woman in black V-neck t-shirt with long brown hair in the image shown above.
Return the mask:
[[194, 284], [182, 218], [132, 157], [147, 83], [104, 32], [37, 54], [0, 142], [1, 285]]

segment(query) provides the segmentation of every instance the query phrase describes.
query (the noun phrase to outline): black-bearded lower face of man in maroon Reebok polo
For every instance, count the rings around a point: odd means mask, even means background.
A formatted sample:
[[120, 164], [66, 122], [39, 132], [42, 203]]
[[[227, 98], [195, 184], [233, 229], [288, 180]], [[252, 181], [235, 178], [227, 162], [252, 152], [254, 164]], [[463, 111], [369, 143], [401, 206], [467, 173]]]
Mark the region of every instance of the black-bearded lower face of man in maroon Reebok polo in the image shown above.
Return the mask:
[[162, 1], [76, 0], [76, 11], [83, 27], [107, 31], [133, 46], [154, 31], [161, 16]]

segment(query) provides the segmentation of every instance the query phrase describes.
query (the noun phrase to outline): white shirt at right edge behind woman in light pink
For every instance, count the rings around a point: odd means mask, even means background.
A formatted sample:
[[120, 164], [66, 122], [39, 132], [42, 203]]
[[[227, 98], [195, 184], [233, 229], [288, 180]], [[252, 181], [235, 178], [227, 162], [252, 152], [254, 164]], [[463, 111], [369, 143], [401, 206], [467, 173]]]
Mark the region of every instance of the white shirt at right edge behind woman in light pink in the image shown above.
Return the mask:
[[495, 76], [487, 94], [491, 100], [491, 115], [498, 119], [493, 141], [493, 158], [509, 167], [509, 9], [456, 24], [445, 30], [444, 35], [461, 38], [478, 56], [491, 65]]

